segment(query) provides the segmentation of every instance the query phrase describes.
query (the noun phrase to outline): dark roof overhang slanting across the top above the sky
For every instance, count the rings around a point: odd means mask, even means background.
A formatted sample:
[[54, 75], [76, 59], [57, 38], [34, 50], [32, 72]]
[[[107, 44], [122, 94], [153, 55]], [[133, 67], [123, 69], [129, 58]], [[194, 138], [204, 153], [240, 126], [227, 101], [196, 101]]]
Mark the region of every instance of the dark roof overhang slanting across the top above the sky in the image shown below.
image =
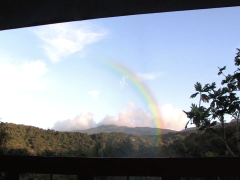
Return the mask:
[[240, 6], [240, 0], [1, 0], [0, 30], [135, 14]]

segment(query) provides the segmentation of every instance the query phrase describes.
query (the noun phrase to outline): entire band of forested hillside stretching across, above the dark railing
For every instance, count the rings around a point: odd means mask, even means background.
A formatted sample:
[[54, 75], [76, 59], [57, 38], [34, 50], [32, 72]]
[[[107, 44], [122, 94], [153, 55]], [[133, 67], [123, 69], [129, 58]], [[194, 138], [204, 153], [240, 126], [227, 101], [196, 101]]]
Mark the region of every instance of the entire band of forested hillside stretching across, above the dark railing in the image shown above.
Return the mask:
[[[229, 146], [237, 153], [236, 123], [226, 125]], [[221, 133], [221, 128], [215, 128]], [[159, 141], [157, 141], [159, 140]], [[159, 142], [159, 143], [157, 143]], [[1, 123], [1, 154], [32, 156], [207, 157], [231, 156], [225, 144], [210, 132], [171, 132], [137, 136], [121, 132], [88, 135]], [[111, 146], [111, 154], [107, 153]], [[90, 153], [98, 148], [105, 154]], [[109, 151], [109, 150], [108, 150]]]

